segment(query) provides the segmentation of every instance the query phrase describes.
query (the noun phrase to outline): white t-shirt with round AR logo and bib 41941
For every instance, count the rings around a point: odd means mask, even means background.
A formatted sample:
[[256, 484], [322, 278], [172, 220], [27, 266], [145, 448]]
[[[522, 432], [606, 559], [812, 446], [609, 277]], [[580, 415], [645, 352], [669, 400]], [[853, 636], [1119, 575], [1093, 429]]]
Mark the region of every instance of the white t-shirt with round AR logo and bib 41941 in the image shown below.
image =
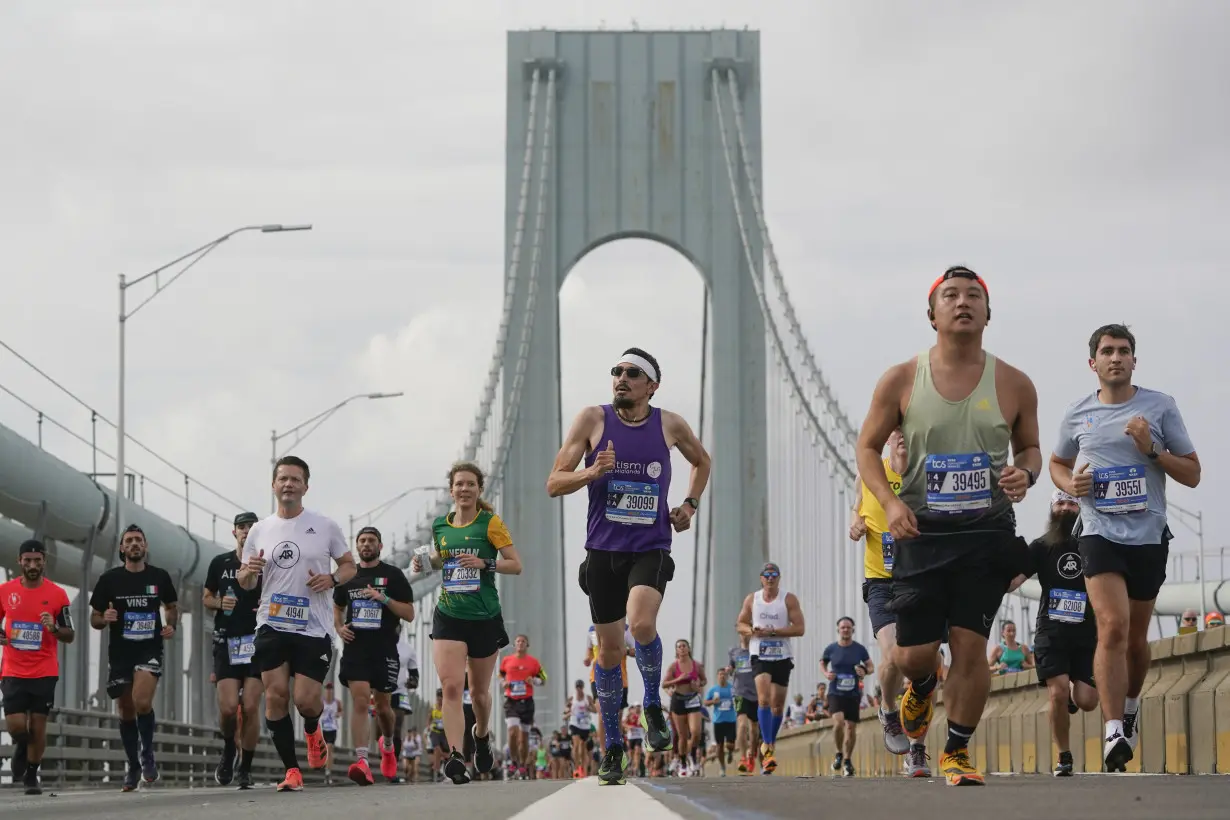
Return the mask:
[[266, 564], [256, 626], [336, 638], [333, 591], [311, 591], [308, 572], [327, 575], [333, 572], [333, 561], [349, 552], [342, 527], [311, 510], [303, 510], [293, 519], [274, 514], [252, 525], [242, 558], [246, 562], [261, 551]]

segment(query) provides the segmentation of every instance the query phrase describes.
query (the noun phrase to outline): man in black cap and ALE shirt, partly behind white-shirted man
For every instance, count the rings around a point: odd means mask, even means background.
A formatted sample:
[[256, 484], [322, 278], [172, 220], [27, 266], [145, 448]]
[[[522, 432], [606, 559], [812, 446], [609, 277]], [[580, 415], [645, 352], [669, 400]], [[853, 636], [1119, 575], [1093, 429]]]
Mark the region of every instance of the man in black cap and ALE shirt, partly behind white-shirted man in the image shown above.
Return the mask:
[[240, 690], [244, 691], [244, 754], [239, 763], [239, 788], [252, 788], [252, 759], [261, 741], [261, 675], [252, 668], [256, 652], [256, 609], [261, 604], [260, 583], [246, 590], [235, 580], [244, 566], [240, 554], [247, 532], [260, 520], [256, 513], [235, 516], [235, 550], [214, 556], [205, 570], [202, 604], [214, 612], [214, 680], [218, 688], [218, 714], [223, 736], [223, 757], [214, 770], [219, 786], [230, 786], [235, 777], [235, 736], [239, 723]]

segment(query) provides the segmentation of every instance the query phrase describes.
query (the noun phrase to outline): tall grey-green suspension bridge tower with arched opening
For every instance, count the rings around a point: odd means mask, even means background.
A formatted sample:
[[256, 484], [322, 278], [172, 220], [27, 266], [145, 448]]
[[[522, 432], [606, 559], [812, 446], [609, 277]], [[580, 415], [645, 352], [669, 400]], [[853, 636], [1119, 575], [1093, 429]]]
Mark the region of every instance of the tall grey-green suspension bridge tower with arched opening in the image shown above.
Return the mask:
[[[581, 594], [577, 562], [562, 562], [563, 502], [545, 489], [561, 420], [581, 409], [560, 407], [558, 291], [594, 248], [656, 240], [695, 266], [708, 294], [713, 475], [695, 524], [712, 515], [712, 574], [707, 639], [694, 636], [708, 648], [708, 660], [732, 645], [743, 595], [755, 588], [769, 554], [766, 342], [753, 282], [764, 257], [754, 230], [750, 245], [740, 241], [736, 208], [752, 219], [749, 184], [760, 178], [759, 49], [759, 32], [752, 31], [508, 36], [506, 288], [512, 327], [528, 328], [528, 338], [514, 336], [510, 344], [528, 343], [528, 352], [502, 364], [503, 400], [518, 407], [502, 514], [533, 583], [507, 584], [503, 595], [513, 629], [535, 637], [549, 670], [567, 674], [565, 588]], [[744, 166], [728, 165], [723, 136], [734, 140], [733, 123], [727, 113], [731, 134], [723, 135], [715, 107], [715, 91], [724, 97], [732, 85], [742, 102], [744, 156], [755, 170], [750, 183]], [[609, 357], [593, 363], [595, 404], [610, 401], [605, 369], [637, 344], [636, 299], [653, 299], [629, 296], [622, 310], [630, 320], [595, 328], [609, 348]], [[673, 361], [669, 350], [653, 353], [668, 379], [672, 370], [695, 366]], [[510, 373], [518, 359], [522, 373]], [[691, 550], [691, 537], [676, 537], [674, 548]], [[676, 578], [667, 595], [688, 595], [690, 586]], [[679, 626], [672, 625], [672, 634]], [[549, 690], [542, 708], [562, 708], [555, 702], [558, 684]]]

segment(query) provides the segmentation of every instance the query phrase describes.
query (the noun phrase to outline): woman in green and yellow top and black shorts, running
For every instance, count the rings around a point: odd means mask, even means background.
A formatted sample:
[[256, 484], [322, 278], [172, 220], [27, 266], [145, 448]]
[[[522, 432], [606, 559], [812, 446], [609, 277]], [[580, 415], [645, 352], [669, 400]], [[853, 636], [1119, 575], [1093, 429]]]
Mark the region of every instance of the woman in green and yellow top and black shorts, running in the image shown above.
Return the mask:
[[[491, 750], [491, 675], [499, 650], [508, 645], [504, 618], [496, 590], [496, 574], [519, 575], [522, 559], [513, 537], [491, 504], [482, 499], [486, 482], [477, 465], [461, 461], [449, 470], [454, 509], [432, 525], [433, 569], [443, 569], [443, 584], [432, 618], [432, 656], [444, 688], [444, 733], [451, 754], [444, 773], [454, 784], [469, 783], [465, 747], [464, 690], [470, 690], [475, 724], [469, 733], [474, 744], [474, 766], [487, 775], [496, 765]], [[459, 545], [466, 546], [459, 546]], [[415, 556], [413, 572], [423, 569]], [[469, 674], [474, 675], [472, 687]]]

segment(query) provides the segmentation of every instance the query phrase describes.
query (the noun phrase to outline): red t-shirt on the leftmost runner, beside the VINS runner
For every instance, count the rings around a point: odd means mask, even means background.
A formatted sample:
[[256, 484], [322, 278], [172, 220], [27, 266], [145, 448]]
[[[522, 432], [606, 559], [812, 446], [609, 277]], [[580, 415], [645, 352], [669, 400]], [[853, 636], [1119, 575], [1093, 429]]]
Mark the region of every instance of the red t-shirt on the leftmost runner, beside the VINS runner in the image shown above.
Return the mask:
[[59, 644], [41, 622], [48, 612], [65, 629], [73, 628], [69, 595], [46, 578], [33, 589], [20, 578], [0, 584], [0, 620], [5, 645], [0, 654], [0, 677], [58, 677]]

